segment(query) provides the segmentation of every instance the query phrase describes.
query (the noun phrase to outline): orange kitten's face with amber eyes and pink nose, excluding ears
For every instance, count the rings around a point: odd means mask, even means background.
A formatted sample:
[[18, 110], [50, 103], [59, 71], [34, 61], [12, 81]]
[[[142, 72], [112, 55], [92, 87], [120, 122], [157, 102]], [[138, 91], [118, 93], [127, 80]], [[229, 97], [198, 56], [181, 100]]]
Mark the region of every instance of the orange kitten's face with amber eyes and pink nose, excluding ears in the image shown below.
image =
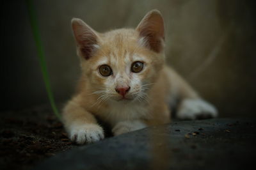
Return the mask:
[[144, 47], [136, 31], [122, 29], [101, 38], [82, 66], [99, 100], [147, 102], [162, 65], [163, 56]]

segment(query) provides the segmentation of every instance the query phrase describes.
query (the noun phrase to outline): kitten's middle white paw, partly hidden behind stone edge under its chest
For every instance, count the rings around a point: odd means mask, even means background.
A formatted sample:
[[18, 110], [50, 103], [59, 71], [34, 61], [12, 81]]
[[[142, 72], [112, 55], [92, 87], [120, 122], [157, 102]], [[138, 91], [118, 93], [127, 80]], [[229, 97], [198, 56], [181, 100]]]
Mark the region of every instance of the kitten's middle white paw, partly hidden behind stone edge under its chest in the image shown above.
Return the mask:
[[124, 133], [131, 132], [134, 130], [139, 130], [139, 129], [145, 128], [145, 127], [147, 127], [147, 125], [145, 125], [145, 123], [142, 123], [139, 120], [120, 121], [112, 129], [112, 132], [114, 135], [120, 135], [120, 134], [124, 134]]

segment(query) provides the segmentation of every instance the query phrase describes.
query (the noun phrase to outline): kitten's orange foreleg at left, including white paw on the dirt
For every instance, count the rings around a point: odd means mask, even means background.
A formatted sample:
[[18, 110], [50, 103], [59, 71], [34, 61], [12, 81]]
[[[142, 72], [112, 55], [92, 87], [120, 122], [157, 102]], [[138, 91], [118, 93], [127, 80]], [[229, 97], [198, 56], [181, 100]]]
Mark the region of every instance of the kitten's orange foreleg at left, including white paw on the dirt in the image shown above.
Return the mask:
[[97, 124], [95, 117], [74, 99], [63, 110], [63, 123], [71, 141], [78, 144], [94, 143], [104, 138], [103, 129]]

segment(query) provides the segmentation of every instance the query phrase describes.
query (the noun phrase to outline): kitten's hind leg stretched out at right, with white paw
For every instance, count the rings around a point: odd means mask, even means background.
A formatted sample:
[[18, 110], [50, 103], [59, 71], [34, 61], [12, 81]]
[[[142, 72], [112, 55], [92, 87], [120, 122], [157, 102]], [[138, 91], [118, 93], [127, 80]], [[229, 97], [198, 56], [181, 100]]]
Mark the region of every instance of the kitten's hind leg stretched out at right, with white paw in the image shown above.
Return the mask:
[[195, 120], [202, 118], [215, 118], [218, 115], [214, 105], [200, 98], [193, 88], [189, 86], [177, 73], [172, 72], [172, 86], [176, 98], [180, 99], [177, 107], [177, 118], [182, 120]]

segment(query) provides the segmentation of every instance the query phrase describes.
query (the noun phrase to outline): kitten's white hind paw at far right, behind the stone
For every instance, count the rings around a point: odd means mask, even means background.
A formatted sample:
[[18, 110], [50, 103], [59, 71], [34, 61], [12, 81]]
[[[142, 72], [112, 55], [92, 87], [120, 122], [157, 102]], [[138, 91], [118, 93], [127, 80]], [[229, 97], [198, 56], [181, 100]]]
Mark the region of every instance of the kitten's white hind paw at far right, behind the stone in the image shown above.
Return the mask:
[[180, 104], [177, 118], [182, 120], [196, 120], [204, 118], [216, 118], [217, 109], [202, 99], [185, 99]]

